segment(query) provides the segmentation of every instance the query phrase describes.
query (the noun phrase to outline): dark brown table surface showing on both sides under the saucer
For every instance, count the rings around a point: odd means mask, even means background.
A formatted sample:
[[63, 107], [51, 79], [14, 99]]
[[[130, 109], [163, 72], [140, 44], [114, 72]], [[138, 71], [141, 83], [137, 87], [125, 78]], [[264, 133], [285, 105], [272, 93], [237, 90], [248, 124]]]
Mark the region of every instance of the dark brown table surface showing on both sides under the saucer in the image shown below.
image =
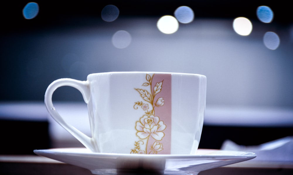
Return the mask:
[[[38, 155], [0, 155], [0, 174], [13, 175], [91, 175], [91, 171], [74, 165], [52, 160]], [[205, 174], [293, 174], [293, 162], [253, 162], [246, 161], [224, 167], [201, 171]]]

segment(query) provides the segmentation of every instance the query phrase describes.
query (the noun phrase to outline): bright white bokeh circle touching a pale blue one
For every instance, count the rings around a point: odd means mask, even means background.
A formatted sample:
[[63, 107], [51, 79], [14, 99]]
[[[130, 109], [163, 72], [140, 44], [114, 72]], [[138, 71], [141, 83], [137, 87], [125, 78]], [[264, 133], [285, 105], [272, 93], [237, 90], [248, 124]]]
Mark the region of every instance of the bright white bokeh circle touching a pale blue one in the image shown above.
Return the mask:
[[157, 27], [162, 33], [172, 34], [178, 30], [179, 23], [175, 17], [165, 15], [158, 20]]

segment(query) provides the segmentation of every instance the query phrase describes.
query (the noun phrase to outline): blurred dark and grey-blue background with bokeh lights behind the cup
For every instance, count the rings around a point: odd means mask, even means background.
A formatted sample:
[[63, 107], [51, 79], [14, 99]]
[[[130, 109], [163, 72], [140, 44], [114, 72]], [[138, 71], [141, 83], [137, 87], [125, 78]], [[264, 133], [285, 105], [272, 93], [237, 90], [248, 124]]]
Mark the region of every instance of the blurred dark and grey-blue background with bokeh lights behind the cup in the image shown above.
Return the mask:
[[[0, 133], [10, 143], [3, 153], [16, 153], [16, 147], [23, 151], [19, 153], [33, 153], [31, 149], [78, 145], [47, 117], [45, 90], [55, 79], [86, 80], [90, 73], [112, 71], [207, 76], [200, 148], [219, 149], [226, 139], [257, 145], [293, 135], [289, 4], [53, 0], [3, 1], [1, 7]], [[74, 88], [57, 89], [53, 101], [61, 112], [65, 108], [69, 120], [79, 114], [69, 114], [74, 109], [87, 115]], [[12, 134], [4, 134], [7, 130]], [[41, 131], [44, 137], [36, 139]], [[12, 136], [33, 148], [19, 149]]]

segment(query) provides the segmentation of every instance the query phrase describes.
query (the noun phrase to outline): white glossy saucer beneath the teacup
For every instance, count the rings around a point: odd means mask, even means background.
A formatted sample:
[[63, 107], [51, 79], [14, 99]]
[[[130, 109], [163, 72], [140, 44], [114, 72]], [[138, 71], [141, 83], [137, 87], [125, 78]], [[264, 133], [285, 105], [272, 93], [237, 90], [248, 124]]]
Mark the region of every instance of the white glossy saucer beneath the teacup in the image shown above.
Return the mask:
[[195, 155], [92, 153], [86, 148], [54, 148], [34, 153], [89, 169], [93, 174], [185, 174], [243, 162], [255, 153], [199, 149]]

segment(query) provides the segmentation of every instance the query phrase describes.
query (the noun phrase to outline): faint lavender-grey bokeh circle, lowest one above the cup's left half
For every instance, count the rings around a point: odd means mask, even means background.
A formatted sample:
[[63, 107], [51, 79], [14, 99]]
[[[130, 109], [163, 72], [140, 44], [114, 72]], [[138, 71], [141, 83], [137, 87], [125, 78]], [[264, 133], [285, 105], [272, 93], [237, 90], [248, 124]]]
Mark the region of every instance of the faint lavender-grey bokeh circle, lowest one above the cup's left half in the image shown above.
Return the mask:
[[125, 30], [117, 31], [112, 37], [112, 44], [116, 48], [126, 48], [131, 43], [131, 35]]

